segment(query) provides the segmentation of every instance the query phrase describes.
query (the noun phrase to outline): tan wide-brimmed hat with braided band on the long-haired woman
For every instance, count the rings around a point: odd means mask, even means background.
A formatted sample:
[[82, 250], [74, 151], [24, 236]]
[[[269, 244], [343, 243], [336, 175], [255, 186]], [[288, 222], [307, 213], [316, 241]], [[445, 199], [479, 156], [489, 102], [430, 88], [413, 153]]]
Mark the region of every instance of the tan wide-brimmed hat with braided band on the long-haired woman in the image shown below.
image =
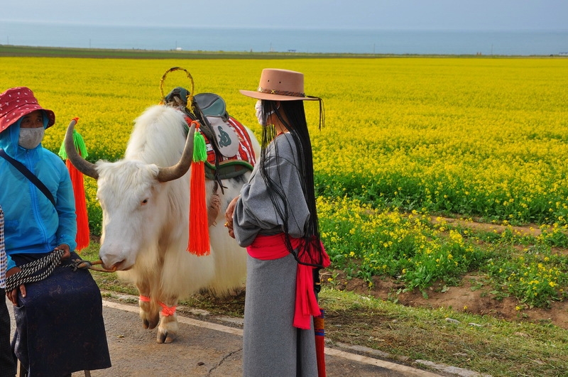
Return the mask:
[[258, 89], [239, 90], [241, 94], [256, 99], [271, 101], [319, 101], [318, 97], [306, 96], [304, 93], [304, 75], [290, 70], [265, 68], [262, 70]]

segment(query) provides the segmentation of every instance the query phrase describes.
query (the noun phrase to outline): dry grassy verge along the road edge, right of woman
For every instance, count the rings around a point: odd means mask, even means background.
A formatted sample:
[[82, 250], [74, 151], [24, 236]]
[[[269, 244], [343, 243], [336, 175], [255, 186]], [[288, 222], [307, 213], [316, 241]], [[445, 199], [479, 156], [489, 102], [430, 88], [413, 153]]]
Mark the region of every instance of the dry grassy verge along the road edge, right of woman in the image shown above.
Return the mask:
[[325, 288], [320, 306], [326, 310], [326, 336], [332, 342], [492, 376], [568, 375], [568, 332], [552, 324], [404, 307]]

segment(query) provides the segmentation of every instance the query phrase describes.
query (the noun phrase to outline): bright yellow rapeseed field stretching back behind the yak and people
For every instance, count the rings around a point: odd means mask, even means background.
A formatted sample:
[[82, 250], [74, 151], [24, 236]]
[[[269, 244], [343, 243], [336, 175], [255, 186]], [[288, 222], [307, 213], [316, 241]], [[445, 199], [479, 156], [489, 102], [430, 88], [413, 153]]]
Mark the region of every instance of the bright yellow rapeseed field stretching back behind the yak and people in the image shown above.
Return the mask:
[[[256, 89], [265, 67], [305, 74], [306, 93], [325, 104], [322, 131], [317, 102], [305, 104], [324, 240], [336, 248], [336, 263], [368, 258], [361, 269], [366, 278], [420, 275], [428, 263], [413, 261], [418, 253], [433, 261], [432, 271], [448, 266], [454, 268], [449, 274], [459, 274], [476, 267], [472, 261], [482, 257], [459, 234], [452, 234], [447, 248], [442, 247], [447, 240], [435, 241], [439, 229], [428, 231], [423, 223], [428, 214], [550, 224], [559, 231], [568, 224], [568, 59], [0, 58], [0, 88], [28, 86], [55, 111], [47, 148], [58, 151], [68, 122], [78, 116], [89, 159], [116, 160], [133, 120], [160, 101], [160, 77], [175, 66], [192, 73], [195, 92], [224, 97], [229, 113], [257, 135], [254, 100], [238, 89]], [[189, 80], [183, 72], [170, 73], [166, 92], [178, 85], [188, 87]], [[87, 185], [93, 213], [94, 182]], [[395, 212], [368, 218], [369, 211], [386, 208]], [[359, 217], [361, 210], [366, 217]], [[402, 214], [413, 211], [410, 219]], [[361, 241], [351, 249], [332, 240], [343, 236], [337, 224], [344, 224], [347, 214], [352, 221], [342, 231]], [[336, 216], [342, 218], [334, 221]], [[361, 237], [373, 233], [369, 226], [375, 222], [382, 224], [382, 235], [366, 243]], [[412, 239], [404, 229], [414, 229]], [[413, 249], [398, 256], [406, 263], [381, 258], [401, 242]], [[558, 279], [545, 285], [555, 288], [562, 284]], [[427, 285], [427, 279], [415, 285]]]

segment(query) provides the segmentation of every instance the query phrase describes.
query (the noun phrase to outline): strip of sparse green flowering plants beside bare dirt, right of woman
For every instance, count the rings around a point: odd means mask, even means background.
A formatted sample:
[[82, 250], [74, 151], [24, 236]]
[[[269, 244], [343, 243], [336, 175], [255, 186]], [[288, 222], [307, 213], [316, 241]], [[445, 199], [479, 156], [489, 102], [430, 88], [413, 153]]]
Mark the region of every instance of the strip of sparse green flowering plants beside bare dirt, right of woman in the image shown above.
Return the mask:
[[[427, 214], [373, 209], [359, 200], [318, 201], [322, 240], [333, 268], [346, 278], [397, 278], [403, 291], [434, 283], [458, 285], [472, 271], [486, 273], [497, 295], [527, 307], [550, 307], [568, 291], [568, 256], [553, 251], [559, 236], [471, 231]], [[524, 245], [520, 249], [516, 246]]]

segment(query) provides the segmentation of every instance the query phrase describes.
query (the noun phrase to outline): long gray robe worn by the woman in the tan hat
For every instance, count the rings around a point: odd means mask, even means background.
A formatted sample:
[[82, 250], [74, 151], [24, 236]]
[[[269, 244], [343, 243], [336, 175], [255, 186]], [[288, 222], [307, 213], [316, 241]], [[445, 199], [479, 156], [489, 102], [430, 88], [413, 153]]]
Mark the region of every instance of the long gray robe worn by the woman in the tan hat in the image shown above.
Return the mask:
[[[274, 153], [278, 148], [278, 158]], [[288, 232], [302, 236], [310, 212], [302, 192], [296, 148], [288, 133], [268, 146], [266, 167], [283, 187], [290, 219]], [[281, 205], [281, 204], [280, 204]], [[258, 234], [283, 231], [267, 188], [256, 165], [249, 183], [241, 190], [233, 215], [234, 233], [241, 246], [252, 244]], [[247, 259], [244, 309], [243, 375], [317, 376], [313, 322], [309, 330], [293, 327], [297, 262], [289, 254], [272, 261]]]

